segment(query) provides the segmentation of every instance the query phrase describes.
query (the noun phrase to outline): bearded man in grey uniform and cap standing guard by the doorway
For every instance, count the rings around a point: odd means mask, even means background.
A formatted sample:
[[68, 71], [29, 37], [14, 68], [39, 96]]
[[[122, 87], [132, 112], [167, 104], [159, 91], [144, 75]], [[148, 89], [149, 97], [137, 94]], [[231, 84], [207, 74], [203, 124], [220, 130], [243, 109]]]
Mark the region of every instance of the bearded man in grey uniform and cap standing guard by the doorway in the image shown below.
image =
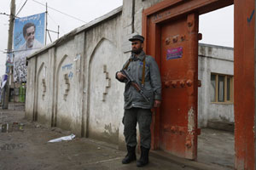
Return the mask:
[[[137, 122], [139, 125], [141, 139], [141, 157], [137, 161], [137, 167], [148, 164], [148, 152], [151, 144], [150, 124], [151, 108], [159, 107], [161, 100], [160, 71], [153, 57], [146, 55], [143, 51], [144, 37], [133, 36], [131, 41], [132, 54], [123, 66], [123, 70], [142, 88], [142, 94], [132, 86], [125, 74], [121, 71], [116, 73], [119, 82], [125, 82], [125, 114], [123, 124], [127, 148], [127, 155], [122, 160], [123, 164], [135, 161], [137, 146]], [[148, 98], [148, 99], [145, 99]], [[148, 100], [148, 101], [147, 101]]]

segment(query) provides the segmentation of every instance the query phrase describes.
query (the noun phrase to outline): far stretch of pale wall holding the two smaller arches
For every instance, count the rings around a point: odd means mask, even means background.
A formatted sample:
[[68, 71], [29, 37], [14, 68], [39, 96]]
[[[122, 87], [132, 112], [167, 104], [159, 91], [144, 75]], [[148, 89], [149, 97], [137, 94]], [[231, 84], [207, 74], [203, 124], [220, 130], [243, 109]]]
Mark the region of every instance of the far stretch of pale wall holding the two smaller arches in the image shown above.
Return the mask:
[[[84, 32], [28, 60], [26, 116], [49, 126], [81, 131], [80, 60]], [[79, 107], [79, 108], [80, 108]]]

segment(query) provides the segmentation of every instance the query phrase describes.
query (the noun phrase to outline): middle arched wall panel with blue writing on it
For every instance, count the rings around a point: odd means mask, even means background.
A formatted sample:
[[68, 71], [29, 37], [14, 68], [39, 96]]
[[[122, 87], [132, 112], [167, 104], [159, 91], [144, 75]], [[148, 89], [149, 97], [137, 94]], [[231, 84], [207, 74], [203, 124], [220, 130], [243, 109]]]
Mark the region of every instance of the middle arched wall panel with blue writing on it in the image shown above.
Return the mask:
[[84, 32], [55, 48], [55, 126], [79, 133], [81, 114], [80, 59], [84, 55]]

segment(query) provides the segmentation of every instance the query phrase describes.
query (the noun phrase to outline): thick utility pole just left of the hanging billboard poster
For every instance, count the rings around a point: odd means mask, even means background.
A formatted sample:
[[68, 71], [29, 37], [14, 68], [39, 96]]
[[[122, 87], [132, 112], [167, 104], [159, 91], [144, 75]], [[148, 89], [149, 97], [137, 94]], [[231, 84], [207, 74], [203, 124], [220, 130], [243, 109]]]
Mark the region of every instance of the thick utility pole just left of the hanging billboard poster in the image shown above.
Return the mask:
[[[14, 25], [15, 25], [15, 0], [11, 0], [10, 5], [10, 15], [9, 15], [9, 37], [8, 37], [8, 46], [7, 46], [7, 54], [13, 53], [13, 34], [14, 34]], [[8, 66], [8, 65], [6, 65]], [[10, 69], [9, 69], [10, 71]], [[7, 82], [4, 86], [3, 90], [3, 105], [2, 109], [8, 109], [9, 105], [9, 76], [10, 72], [6, 72], [8, 74]]]

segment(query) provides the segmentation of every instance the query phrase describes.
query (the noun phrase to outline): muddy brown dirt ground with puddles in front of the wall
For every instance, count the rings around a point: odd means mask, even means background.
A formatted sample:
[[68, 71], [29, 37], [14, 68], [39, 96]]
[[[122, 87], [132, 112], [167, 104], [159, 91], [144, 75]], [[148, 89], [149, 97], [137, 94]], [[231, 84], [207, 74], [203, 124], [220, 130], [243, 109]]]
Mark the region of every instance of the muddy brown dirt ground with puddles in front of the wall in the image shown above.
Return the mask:
[[71, 133], [27, 122], [24, 111], [0, 110], [0, 124], [3, 123], [9, 123], [9, 132], [0, 132], [0, 170], [193, 169], [152, 156], [147, 167], [137, 168], [135, 161], [122, 165], [125, 152], [93, 139], [48, 143]]

